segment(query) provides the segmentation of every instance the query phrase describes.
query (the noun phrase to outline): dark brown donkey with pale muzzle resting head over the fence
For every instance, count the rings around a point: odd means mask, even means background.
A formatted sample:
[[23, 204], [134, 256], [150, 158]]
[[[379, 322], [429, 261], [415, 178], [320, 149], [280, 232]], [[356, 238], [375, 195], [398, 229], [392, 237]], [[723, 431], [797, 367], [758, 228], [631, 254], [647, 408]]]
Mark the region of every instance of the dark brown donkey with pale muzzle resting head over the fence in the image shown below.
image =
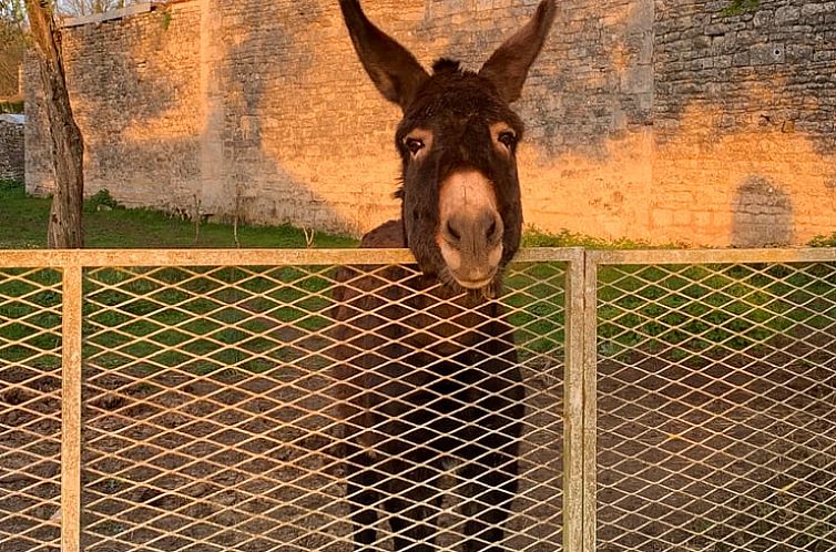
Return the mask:
[[339, 6], [366, 72], [404, 112], [395, 136], [401, 218], [366, 234], [361, 247], [408, 247], [418, 266], [337, 275], [334, 371], [355, 550], [380, 550], [378, 513], [396, 551], [436, 550], [442, 499], [452, 494], [462, 550], [502, 551], [524, 413], [513, 331], [495, 300], [522, 228], [523, 129], [509, 104], [555, 2], [543, 0], [479, 72], [441, 59], [432, 74], [358, 0]]

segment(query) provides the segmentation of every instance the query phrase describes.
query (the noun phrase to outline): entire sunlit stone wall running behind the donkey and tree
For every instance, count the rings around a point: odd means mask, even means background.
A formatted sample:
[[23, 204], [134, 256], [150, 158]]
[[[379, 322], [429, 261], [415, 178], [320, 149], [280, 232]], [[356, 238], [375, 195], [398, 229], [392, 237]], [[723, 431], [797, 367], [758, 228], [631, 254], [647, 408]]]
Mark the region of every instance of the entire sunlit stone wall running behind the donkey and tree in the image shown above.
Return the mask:
[[[425, 64], [478, 69], [536, 3], [364, 6]], [[836, 2], [727, 4], [560, 2], [517, 104], [529, 224], [694, 245], [836, 229]], [[89, 193], [355, 234], [397, 216], [399, 112], [363, 72], [336, 2], [174, 3], [68, 29], [65, 48]], [[28, 186], [45, 192], [41, 110], [27, 109]]]

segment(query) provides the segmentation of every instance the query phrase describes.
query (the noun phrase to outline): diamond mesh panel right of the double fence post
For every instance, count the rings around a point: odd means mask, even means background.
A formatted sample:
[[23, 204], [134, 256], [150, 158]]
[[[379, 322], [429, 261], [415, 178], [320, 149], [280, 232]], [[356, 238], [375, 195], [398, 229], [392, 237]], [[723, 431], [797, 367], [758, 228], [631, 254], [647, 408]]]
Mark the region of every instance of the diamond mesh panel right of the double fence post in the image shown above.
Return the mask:
[[599, 268], [599, 551], [836, 550], [835, 268]]

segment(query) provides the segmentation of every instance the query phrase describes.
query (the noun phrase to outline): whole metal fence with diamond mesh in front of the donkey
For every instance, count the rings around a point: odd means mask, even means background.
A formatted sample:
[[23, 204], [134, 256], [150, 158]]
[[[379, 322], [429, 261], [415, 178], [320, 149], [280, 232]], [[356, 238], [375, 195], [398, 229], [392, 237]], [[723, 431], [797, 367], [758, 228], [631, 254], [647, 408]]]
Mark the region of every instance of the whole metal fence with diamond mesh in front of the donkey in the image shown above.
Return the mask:
[[836, 550], [833, 251], [410, 260], [0, 253], [0, 550]]

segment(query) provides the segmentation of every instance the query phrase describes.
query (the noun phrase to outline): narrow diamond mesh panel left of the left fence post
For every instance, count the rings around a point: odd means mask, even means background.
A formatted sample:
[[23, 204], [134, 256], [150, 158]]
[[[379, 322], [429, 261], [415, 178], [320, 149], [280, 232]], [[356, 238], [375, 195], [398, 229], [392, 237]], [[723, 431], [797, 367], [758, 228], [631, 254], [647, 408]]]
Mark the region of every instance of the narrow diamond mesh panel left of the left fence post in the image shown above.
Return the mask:
[[61, 275], [0, 268], [0, 550], [58, 551]]

